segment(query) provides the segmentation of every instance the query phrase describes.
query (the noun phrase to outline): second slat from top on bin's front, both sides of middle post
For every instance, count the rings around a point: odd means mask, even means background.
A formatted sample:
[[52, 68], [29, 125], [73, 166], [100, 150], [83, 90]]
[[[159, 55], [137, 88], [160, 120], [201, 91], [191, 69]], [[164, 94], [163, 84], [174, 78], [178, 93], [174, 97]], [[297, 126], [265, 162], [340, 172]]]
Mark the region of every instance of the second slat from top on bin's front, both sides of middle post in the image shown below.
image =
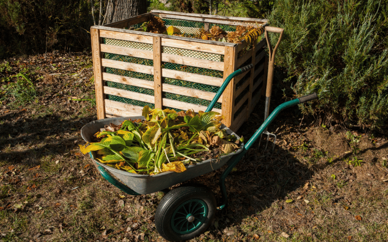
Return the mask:
[[[101, 52], [133, 56], [143, 59], [153, 59], [154, 55], [152, 51], [134, 49], [129, 47], [115, 46], [109, 44], [101, 44]], [[181, 55], [174, 55], [168, 53], [162, 53], [163, 62], [171, 62], [180, 65], [195, 66], [200, 68], [213, 69], [217, 71], [223, 70], [223, 62], [212, 61], [199, 58], [186, 57]]]

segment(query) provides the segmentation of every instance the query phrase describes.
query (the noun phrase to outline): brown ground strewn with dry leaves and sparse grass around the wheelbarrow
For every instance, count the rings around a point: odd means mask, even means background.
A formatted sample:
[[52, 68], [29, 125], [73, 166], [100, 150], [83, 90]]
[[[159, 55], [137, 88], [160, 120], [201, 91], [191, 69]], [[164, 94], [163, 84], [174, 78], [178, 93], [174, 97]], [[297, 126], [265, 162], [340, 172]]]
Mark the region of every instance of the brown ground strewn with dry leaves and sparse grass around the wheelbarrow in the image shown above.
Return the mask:
[[[163, 193], [124, 194], [79, 151], [81, 127], [96, 119], [90, 56], [8, 62], [0, 73], [7, 95], [0, 106], [1, 241], [164, 241], [153, 223]], [[37, 90], [23, 105], [4, 91], [19, 72]], [[284, 101], [272, 100], [271, 108]], [[247, 140], [262, 113], [261, 103], [237, 133]], [[278, 136], [274, 153], [265, 142], [249, 150], [226, 179], [227, 208], [191, 241], [388, 241], [386, 134], [328, 129], [298, 107], [268, 130]], [[222, 171], [193, 182], [219, 197]]]

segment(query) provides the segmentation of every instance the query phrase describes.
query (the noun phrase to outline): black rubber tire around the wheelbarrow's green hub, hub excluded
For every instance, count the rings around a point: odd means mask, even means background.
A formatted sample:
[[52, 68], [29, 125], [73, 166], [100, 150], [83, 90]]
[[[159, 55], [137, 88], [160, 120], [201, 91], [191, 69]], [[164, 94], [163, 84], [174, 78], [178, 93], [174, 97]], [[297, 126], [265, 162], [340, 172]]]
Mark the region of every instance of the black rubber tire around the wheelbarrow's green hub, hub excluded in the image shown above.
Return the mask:
[[[201, 225], [192, 232], [186, 234], [177, 233], [173, 229], [172, 216], [178, 211], [180, 206], [184, 206], [191, 201], [198, 201], [200, 206], [207, 206], [206, 218], [203, 218]], [[155, 227], [158, 233], [168, 241], [185, 241], [190, 240], [204, 233], [212, 224], [216, 214], [216, 198], [213, 192], [204, 186], [190, 184], [189, 186], [180, 186], [172, 189], [166, 194], [159, 203], [155, 213]], [[176, 230], [176, 228], [175, 228]]]

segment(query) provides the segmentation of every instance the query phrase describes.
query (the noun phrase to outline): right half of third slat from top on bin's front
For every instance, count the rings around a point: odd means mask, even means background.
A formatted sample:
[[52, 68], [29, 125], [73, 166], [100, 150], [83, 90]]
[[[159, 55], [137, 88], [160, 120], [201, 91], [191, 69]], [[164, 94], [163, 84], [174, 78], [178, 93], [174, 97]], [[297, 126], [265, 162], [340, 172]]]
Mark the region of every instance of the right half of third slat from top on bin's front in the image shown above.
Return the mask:
[[172, 79], [183, 80], [183, 81], [193, 81], [196, 83], [213, 85], [213, 86], [221, 86], [223, 82], [222, 78], [209, 77], [209, 76], [169, 70], [169, 69], [162, 69], [162, 76], [166, 78], [172, 78]]

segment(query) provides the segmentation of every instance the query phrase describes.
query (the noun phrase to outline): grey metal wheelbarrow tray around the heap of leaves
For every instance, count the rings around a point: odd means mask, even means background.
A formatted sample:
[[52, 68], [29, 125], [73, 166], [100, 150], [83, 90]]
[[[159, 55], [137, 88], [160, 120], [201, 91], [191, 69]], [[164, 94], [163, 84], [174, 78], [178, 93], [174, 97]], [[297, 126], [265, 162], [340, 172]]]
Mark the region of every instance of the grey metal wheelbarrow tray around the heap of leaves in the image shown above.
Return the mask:
[[[100, 128], [103, 128], [104, 125], [109, 125], [110, 123], [118, 125], [118, 124], [121, 124], [123, 121], [128, 120], [129, 118], [132, 120], [137, 120], [137, 119], [144, 120], [143, 116], [137, 116], [137, 117], [126, 117], [126, 118], [121, 117], [121, 118], [110, 118], [110, 119], [92, 121], [86, 124], [81, 129], [81, 136], [86, 142], [91, 143], [92, 135], [98, 132]], [[232, 132], [232, 130], [227, 128], [225, 125], [222, 125], [221, 128], [225, 129], [228, 135], [233, 134], [237, 137], [237, 139], [240, 138], [234, 132]], [[242, 150], [243, 150], [243, 144], [240, 146], [240, 148], [237, 151], [234, 151], [225, 156], [221, 156], [219, 157], [219, 159], [209, 159], [206, 161], [198, 162], [194, 165], [186, 165], [186, 170], [184, 172], [178, 173], [174, 171], [168, 171], [168, 172], [162, 172], [156, 175], [134, 174], [134, 173], [130, 173], [124, 170], [119, 170], [111, 166], [105, 165], [95, 160], [95, 153], [96, 153], [95, 151], [91, 152], [90, 156], [93, 162], [97, 164], [96, 165], [97, 168], [98, 166], [104, 167], [106, 170], [108, 170], [117, 178], [119, 178], [120, 181], [122, 181], [125, 185], [127, 185], [131, 190], [133, 190], [137, 194], [151, 194], [158, 191], [162, 191], [175, 184], [190, 180], [194, 177], [212, 172], [213, 170], [216, 170], [221, 166], [223, 166], [224, 164], [226, 164], [227, 161], [229, 161], [232, 156], [240, 153]]]

